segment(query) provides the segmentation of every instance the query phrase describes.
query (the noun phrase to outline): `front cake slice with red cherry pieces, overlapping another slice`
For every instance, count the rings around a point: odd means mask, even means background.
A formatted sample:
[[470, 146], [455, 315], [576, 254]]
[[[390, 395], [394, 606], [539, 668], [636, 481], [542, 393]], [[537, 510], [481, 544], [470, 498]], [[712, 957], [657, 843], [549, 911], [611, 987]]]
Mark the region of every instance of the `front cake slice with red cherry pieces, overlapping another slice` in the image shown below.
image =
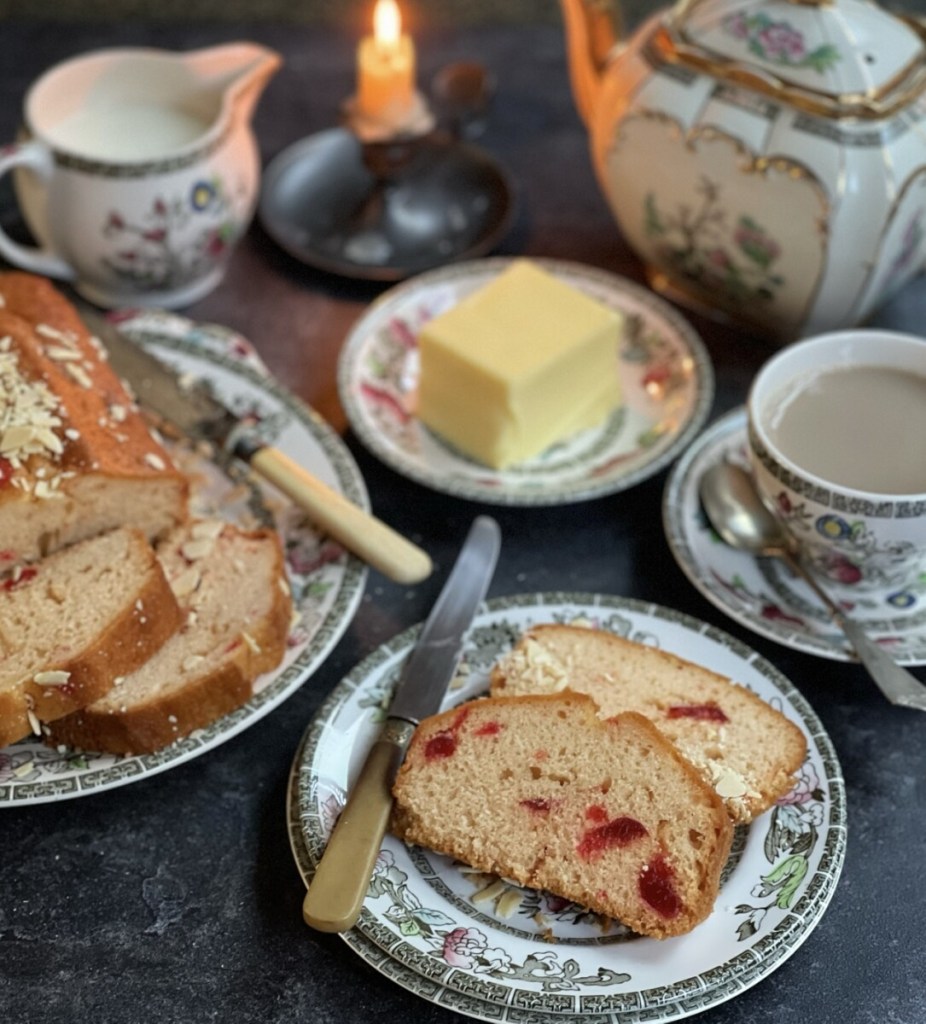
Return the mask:
[[392, 830], [654, 938], [711, 912], [732, 822], [703, 776], [633, 712], [580, 693], [486, 697], [415, 731]]

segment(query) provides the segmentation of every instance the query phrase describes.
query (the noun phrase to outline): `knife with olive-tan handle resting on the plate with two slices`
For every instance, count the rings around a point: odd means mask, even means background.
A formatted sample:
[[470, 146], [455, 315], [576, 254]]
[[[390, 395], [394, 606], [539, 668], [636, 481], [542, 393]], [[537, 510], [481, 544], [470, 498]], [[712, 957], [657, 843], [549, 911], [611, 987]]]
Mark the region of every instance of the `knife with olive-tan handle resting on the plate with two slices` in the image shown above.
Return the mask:
[[415, 726], [440, 708], [500, 547], [498, 523], [478, 516], [403, 666], [386, 722], [350, 788], [305, 894], [302, 916], [319, 931], [345, 932], [360, 916], [392, 810], [395, 773]]

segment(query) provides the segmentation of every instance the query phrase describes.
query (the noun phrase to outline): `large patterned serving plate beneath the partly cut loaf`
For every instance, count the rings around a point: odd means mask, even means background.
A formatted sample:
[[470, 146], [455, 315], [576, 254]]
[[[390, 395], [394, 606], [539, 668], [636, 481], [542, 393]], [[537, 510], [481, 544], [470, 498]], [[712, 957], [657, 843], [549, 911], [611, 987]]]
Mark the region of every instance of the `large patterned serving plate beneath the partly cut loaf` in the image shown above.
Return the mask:
[[[369, 507], [360, 470], [343, 442], [315, 413], [266, 376], [243, 338], [169, 313], [142, 313], [120, 326], [166, 361], [207, 381], [233, 409], [256, 413], [267, 440], [352, 501]], [[200, 459], [200, 463], [196, 466], [201, 476], [195, 508], [215, 514], [221, 508], [227, 516], [237, 502], [241, 508], [235, 510], [235, 518], [249, 521], [246, 517], [252, 514], [253, 486], [236, 484], [205, 460]], [[90, 755], [57, 751], [38, 739], [0, 750], [0, 807], [99, 793], [182, 764], [253, 725], [322, 663], [356, 610], [366, 568], [318, 534], [288, 503], [270, 495], [264, 497], [259, 498], [260, 508], [253, 514], [265, 516], [269, 510], [281, 531], [298, 615], [281, 667], [258, 680], [254, 696], [243, 708], [156, 754]]]

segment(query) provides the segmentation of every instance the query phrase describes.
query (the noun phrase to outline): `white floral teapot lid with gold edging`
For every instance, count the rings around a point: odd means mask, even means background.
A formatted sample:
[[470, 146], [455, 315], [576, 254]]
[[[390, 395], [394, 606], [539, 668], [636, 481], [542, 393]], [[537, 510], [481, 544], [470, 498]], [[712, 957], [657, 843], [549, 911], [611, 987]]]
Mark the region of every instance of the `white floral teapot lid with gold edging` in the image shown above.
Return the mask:
[[926, 88], [926, 30], [872, 0], [680, 0], [665, 26], [673, 59], [820, 113], [880, 116]]

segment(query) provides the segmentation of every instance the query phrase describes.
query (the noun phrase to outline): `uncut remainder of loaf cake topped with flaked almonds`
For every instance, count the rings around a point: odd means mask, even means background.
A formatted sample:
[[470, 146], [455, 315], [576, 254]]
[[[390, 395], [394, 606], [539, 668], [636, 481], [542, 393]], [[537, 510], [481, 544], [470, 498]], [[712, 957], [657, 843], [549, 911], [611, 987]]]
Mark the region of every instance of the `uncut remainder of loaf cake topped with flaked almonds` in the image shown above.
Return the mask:
[[0, 572], [116, 526], [158, 538], [187, 493], [74, 306], [0, 273]]

